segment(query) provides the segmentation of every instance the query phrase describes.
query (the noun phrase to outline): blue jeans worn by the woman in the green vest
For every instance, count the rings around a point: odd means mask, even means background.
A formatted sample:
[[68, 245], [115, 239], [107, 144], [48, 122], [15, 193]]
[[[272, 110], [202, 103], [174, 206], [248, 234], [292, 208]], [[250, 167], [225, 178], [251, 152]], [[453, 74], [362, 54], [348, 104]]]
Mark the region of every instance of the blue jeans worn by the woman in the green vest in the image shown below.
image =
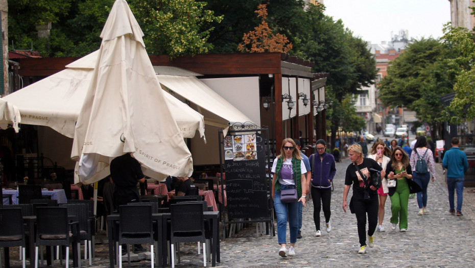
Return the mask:
[[[282, 190], [284, 189], [285, 188], [282, 188]], [[287, 218], [289, 218], [290, 242], [297, 242], [298, 203], [299, 202], [280, 203], [280, 191], [275, 191], [274, 208], [275, 214], [277, 214], [277, 239], [279, 240], [279, 244], [287, 243]]]

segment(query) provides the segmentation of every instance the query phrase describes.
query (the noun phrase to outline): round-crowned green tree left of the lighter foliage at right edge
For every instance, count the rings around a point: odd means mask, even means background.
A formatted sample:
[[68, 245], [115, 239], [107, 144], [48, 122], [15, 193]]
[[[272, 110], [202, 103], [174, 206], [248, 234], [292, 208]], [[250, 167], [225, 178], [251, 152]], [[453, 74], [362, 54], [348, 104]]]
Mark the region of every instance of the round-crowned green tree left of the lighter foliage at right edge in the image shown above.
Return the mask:
[[440, 97], [452, 91], [447, 46], [433, 38], [415, 40], [388, 69], [379, 86], [379, 99], [388, 107], [407, 107], [433, 126], [433, 135], [445, 119]]

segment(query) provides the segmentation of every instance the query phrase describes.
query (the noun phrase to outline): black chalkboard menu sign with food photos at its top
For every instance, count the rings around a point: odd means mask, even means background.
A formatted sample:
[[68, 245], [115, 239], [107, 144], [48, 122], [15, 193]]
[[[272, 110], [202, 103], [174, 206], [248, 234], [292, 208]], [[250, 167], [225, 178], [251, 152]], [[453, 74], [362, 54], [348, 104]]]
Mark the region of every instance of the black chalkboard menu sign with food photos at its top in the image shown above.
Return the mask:
[[266, 147], [262, 134], [224, 137], [228, 218], [268, 217]]

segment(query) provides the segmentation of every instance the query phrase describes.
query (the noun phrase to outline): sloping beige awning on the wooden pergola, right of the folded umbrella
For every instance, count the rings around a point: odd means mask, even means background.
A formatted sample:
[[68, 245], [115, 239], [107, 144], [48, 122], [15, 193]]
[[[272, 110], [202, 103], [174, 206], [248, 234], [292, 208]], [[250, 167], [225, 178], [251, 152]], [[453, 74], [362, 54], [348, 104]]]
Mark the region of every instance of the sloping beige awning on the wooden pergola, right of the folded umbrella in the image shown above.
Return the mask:
[[[157, 75], [157, 77], [160, 84], [196, 104], [197, 109], [207, 110], [209, 113], [201, 112], [206, 125], [221, 127], [226, 132], [227, 127], [236, 122], [254, 124], [238, 108], [232, 106], [221, 95], [194, 76]], [[226, 135], [226, 133], [224, 134]]]

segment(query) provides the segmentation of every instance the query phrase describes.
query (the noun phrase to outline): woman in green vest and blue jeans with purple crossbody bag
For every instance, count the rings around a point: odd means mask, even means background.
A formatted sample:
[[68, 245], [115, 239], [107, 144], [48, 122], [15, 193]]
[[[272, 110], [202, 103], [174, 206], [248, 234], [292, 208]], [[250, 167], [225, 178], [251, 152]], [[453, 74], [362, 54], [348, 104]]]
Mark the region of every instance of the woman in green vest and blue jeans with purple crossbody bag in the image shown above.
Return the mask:
[[[281, 257], [295, 256], [295, 242], [298, 233], [298, 208], [299, 203], [305, 206], [305, 165], [293, 139], [286, 138], [282, 141], [280, 155], [272, 164], [272, 199], [274, 200], [275, 213], [277, 214], [277, 238], [280, 244]], [[280, 202], [280, 192], [285, 189], [297, 189], [298, 201], [290, 203]], [[290, 248], [286, 248], [287, 219], [289, 219]]]

